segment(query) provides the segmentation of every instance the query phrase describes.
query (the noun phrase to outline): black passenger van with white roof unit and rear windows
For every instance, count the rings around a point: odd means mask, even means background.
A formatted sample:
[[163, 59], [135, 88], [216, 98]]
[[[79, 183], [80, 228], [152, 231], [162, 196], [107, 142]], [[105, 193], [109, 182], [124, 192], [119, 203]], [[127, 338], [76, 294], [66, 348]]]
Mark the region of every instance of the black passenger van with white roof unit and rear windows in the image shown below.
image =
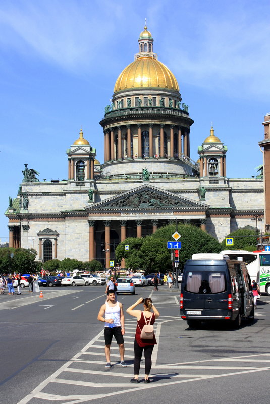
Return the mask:
[[183, 270], [180, 314], [190, 327], [225, 320], [240, 327], [254, 319], [251, 280], [243, 261], [223, 254], [193, 254]]

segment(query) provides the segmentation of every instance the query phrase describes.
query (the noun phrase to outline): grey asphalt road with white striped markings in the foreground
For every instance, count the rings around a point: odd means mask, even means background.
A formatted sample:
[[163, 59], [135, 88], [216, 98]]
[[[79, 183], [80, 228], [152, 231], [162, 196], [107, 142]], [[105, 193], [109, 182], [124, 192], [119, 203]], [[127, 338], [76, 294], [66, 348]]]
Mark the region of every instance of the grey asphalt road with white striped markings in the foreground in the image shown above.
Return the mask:
[[[253, 324], [238, 330], [215, 323], [191, 329], [179, 316], [179, 292], [160, 286], [119, 295], [127, 308], [151, 296], [160, 311], [155, 323], [150, 384], [131, 384], [136, 321], [126, 315], [125, 360], [112, 344], [105, 369], [103, 324], [96, 317], [105, 301], [102, 286], [44, 288], [44, 298], [0, 296], [1, 402], [97, 404], [224, 404], [269, 402], [270, 298], [261, 296]], [[144, 375], [144, 360], [140, 379]]]

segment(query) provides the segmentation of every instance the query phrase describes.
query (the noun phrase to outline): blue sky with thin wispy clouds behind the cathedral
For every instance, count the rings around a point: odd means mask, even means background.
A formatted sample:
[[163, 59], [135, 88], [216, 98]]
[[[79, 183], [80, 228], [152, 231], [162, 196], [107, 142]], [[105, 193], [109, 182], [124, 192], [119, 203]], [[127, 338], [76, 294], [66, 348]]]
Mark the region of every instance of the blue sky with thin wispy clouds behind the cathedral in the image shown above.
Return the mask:
[[[153, 3], [153, 4], [151, 4]], [[270, 112], [269, 1], [2, 0], [0, 3], [0, 238], [24, 164], [39, 179], [67, 178], [66, 149], [84, 137], [103, 162], [99, 121], [134, 60], [144, 19], [154, 51], [194, 119], [191, 158], [211, 122], [228, 147], [227, 176], [256, 175]]]

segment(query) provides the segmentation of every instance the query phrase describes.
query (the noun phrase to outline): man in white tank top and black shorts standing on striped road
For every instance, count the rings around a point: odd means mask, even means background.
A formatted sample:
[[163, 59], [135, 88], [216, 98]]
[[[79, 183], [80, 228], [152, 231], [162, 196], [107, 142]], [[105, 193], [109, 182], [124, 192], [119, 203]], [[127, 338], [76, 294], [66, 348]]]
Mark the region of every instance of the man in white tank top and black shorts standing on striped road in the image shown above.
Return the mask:
[[124, 347], [124, 334], [125, 334], [125, 319], [122, 303], [115, 300], [115, 291], [109, 289], [107, 291], [107, 302], [105, 302], [98, 313], [97, 319], [105, 323], [104, 325], [104, 338], [105, 338], [105, 356], [106, 366], [110, 368], [111, 364], [111, 343], [113, 336], [119, 346], [120, 365], [125, 368], [127, 365], [124, 361], [125, 347]]

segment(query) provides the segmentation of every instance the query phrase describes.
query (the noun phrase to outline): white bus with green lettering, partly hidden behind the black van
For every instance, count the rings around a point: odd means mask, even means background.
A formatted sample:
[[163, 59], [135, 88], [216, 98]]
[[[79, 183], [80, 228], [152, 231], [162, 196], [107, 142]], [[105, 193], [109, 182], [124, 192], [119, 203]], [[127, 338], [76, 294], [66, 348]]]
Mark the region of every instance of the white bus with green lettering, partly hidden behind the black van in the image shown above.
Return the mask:
[[231, 260], [244, 261], [251, 281], [254, 279], [260, 292], [266, 292], [270, 296], [270, 252], [224, 250], [220, 254], [228, 255]]

